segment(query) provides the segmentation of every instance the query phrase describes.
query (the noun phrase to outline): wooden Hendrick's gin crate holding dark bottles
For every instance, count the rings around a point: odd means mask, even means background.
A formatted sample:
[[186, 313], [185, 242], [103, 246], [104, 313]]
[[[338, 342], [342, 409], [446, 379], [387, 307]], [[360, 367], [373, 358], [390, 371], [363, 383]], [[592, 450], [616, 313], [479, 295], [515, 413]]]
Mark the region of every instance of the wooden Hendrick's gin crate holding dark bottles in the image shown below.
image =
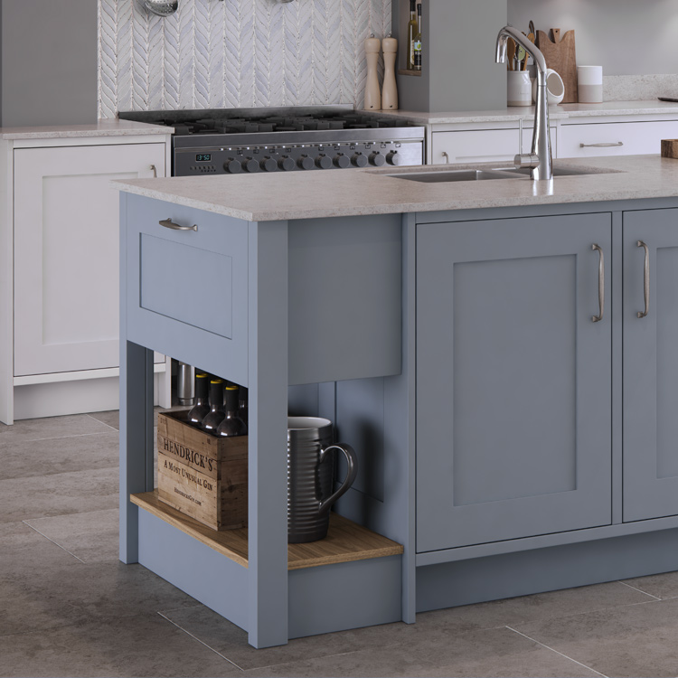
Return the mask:
[[247, 436], [216, 438], [187, 414], [158, 414], [158, 498], [212, 530], [247, 527]]

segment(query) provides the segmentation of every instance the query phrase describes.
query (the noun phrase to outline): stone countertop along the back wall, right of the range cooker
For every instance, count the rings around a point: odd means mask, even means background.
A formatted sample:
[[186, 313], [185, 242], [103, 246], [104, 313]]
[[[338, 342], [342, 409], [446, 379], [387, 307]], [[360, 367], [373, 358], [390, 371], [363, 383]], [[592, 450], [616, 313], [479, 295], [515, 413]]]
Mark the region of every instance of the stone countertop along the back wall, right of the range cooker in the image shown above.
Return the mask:
[[[382, 110], [389, 118], [405, 118], [418, 125], [452, 125], [482, 122], [512, 122], [533, 119], [533, 106], [516, 106], [499, 110], [469, 110], [452, 113], [421, 113], [412, 110]], [[646, 101], [606, 101], [602, 104], [559, 104], [549, 107], [551, 120], [564, 122], [568, 118], [678, 115], [678, 103], [651, 99]]]

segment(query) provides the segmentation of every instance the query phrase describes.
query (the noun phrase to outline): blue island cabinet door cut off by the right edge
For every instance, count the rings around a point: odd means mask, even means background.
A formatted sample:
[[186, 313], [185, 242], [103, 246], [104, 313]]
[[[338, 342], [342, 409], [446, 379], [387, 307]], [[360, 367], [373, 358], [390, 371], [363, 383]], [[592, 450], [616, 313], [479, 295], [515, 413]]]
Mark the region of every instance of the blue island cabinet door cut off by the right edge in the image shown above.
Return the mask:
[[[645, 317], [645, 251], [649, 311]], [[678, 514], [678, 210], [624, 213], [624, 520]]]

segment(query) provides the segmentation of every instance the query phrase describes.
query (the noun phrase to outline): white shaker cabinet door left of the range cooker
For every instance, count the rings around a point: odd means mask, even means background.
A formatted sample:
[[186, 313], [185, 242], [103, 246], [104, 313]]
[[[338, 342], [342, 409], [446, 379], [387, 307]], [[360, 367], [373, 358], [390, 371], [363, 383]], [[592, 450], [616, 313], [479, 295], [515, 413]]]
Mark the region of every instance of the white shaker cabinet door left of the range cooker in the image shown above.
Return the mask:
[[118, 191], [165, 144], [14, 151], [14, 375], [118, 367]]

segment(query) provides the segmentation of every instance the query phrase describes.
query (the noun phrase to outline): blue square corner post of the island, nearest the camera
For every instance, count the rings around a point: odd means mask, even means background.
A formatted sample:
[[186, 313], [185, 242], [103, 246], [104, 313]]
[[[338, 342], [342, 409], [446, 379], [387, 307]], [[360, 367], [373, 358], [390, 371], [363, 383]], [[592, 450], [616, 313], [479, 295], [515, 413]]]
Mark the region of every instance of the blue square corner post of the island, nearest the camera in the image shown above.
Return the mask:
[[249, 227], [250, 645], [287, 643], [287, 221]]

